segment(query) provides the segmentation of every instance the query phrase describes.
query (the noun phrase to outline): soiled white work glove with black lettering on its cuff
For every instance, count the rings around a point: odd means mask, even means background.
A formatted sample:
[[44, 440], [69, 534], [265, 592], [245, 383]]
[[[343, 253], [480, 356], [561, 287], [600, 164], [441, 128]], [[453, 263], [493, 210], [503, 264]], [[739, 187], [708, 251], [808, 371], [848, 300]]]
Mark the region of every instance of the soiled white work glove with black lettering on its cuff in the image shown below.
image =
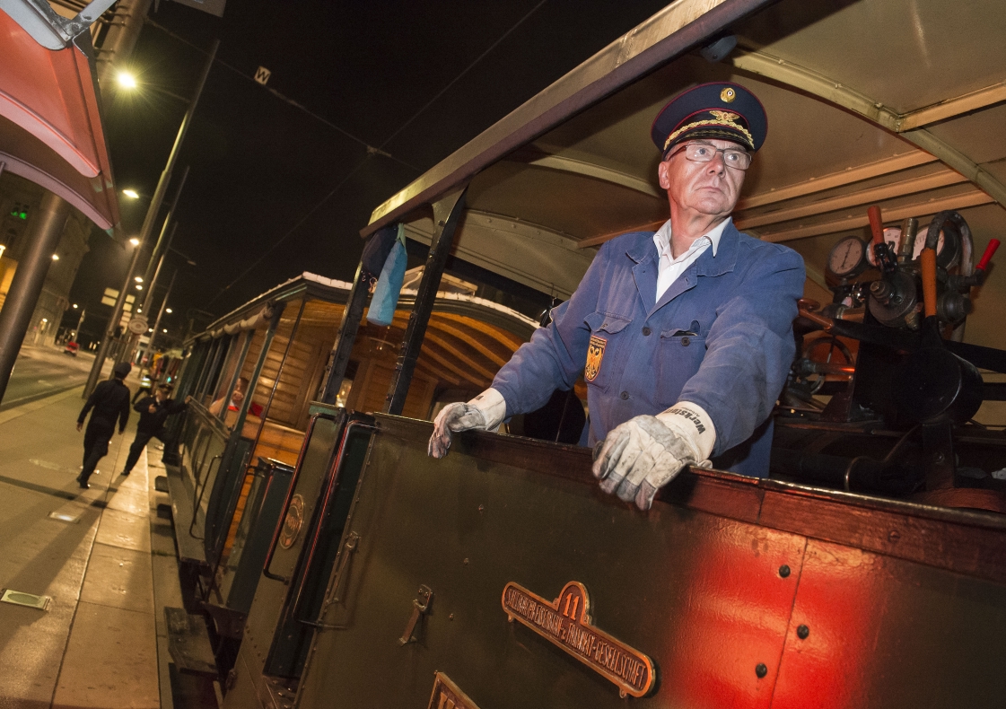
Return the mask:
[[601, 489], [649, 510], [663, 486], [685, 466], [710, 465], [716, 429], [709, 414], [679, 401], [656, 416], [636, 416], [609, 431], [595, 449], [594, 477]]

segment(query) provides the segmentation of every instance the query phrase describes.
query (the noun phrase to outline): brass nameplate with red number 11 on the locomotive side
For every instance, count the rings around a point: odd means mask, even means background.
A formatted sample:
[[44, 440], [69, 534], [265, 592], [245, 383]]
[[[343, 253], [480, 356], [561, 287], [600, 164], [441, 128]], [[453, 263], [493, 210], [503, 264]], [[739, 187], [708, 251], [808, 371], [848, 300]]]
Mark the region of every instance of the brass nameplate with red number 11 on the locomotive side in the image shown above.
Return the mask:
[[539, 636], [618, 685], [622, 696], [642, 697], [653, 687], [650, 658], [595, 628], [591, 599], [578, 581], [569, 581], [548, 601], [514, 582], [503, 588], [503, 610]]

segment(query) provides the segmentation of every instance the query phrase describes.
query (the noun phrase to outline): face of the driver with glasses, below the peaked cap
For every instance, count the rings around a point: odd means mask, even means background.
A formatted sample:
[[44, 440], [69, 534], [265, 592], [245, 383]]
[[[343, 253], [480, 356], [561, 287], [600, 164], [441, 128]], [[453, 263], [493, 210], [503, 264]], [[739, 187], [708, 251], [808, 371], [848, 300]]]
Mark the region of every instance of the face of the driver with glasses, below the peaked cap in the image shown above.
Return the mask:
[[[743, 150], [731, 141], [712, 138], [702, 138], [687, 143], [704, 143], [713, 148]], [[667, 198], [672, 205], [677, 204], [679, 209], [726, 217], [733, 211], [740, 196], [744, 171], [726, 167], [722, 153], [716, 153], [707, 163], [688, 160], [682, 150], [685, 145], [686, 143], [680, 143], [675, 146], [671, 157], [660, 163], [660, 167], [657, 168], [660, 186], [667, 190]], [[674, 155], [674, 152], [677, 154]]]

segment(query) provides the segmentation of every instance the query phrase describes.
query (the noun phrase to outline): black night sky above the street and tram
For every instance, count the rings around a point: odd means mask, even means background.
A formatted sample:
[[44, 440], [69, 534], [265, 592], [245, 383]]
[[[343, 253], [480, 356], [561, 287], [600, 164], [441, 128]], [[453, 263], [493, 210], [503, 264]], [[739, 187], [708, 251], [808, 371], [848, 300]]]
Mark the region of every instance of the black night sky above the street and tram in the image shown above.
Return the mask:
[[[227, 0], [217, 18], [161, 0], [130, 61], [140, 88], [105, 106], [117, 186], [141, 194], [120, 198], [127, 236], [185, 113], [171, 95], [192, 95], [220, 40], [155, 229], [190, 166], [172, 244], [184, 255], [159, 282], [180, 270], [164, 326], [180, 336], [186, 314], [223, 315], [304, 271], [350, 280], [377, 204], [665, 4]], [[70, 296], [97, 331], [129, 254], [97, 228], [91, 249]]]

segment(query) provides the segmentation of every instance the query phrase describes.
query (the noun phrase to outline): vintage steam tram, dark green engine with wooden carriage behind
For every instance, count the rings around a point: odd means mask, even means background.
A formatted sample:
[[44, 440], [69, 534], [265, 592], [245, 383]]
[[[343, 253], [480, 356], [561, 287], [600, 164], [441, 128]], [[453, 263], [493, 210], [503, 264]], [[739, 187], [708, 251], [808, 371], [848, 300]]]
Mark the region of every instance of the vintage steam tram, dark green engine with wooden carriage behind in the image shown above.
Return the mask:
[[[224, 707], [1001, 707], [1004, 30], [992, 0], [679, 0], [374, 209], [427, 249], [399, 340], [361, 328], [362, 264], [197, 338], [176, 534]], [[446, 342], [445, 271], [568, 298], [667, 219], [653, 117], [724, 80], [770, 121], [734, 223], [808, 275], [770, 477], [693, 466], [641, 512], [572, 442], [430, 458], [464, 399], [436, 362], [481, 390], [534, 328]]]

